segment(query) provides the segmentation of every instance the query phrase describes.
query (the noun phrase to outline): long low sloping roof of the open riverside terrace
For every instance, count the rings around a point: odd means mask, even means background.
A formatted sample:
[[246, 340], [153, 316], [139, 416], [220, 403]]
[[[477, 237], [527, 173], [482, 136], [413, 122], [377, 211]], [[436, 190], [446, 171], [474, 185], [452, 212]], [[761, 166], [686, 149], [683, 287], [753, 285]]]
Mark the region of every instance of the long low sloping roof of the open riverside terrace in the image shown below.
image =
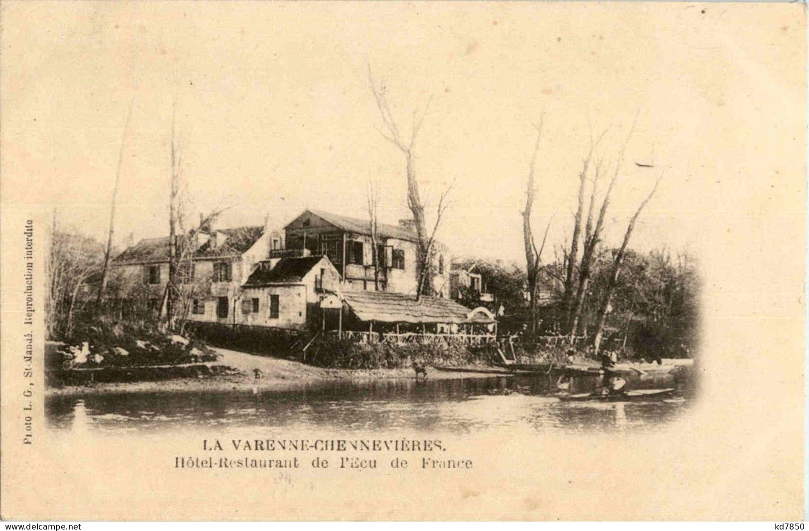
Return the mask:
[[414, 295], [383, 291], [349, 291], [343, 298], [362, 321], [379, 322], [494, 322], [477, 310], [469, 310], [451, 299], [426, 297], [416, 301]]

